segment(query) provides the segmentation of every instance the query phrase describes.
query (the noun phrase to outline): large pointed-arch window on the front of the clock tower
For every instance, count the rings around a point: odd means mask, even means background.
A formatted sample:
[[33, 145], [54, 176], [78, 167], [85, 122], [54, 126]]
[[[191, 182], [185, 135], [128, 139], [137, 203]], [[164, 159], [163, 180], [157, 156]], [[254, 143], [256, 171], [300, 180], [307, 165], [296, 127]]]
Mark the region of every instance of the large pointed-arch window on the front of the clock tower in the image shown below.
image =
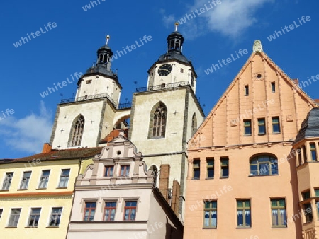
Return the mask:
[[149, 139], [165, 137], [166, 119], [167, 107], [164, 103], [159, 102], [151, 111]]

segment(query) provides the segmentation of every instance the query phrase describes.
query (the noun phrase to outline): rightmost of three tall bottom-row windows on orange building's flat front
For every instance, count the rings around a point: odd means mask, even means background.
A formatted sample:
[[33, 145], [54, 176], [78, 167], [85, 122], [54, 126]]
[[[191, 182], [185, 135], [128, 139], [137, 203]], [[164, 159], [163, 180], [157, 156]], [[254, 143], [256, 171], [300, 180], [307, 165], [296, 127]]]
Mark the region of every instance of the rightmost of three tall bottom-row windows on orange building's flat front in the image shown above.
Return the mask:
[[285, 199], [271, 199], [272, 206], [272, 226], [286, 227], [286, 204]]

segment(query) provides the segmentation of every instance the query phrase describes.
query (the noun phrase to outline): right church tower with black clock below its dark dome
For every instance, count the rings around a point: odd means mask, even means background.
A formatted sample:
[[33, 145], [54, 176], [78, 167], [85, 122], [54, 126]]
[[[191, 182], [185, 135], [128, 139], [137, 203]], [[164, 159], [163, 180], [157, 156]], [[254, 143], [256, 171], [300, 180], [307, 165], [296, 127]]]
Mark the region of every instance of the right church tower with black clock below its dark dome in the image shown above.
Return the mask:
[[149, 168], [158, 172], [161, 165], [170, 165], [168, 187], [172, 190], [173, 180], [181, 185], [182, 217], [187, 141], [204, 115], [195, 95], [197, 74], [191, 61], [182, 54], [184, 37], [177, 26], [178, 23], [167, 37], [166, 53], [147, 71], [147, 87], [137, 88], [133, 94], [128, 137], [142, 152]]

